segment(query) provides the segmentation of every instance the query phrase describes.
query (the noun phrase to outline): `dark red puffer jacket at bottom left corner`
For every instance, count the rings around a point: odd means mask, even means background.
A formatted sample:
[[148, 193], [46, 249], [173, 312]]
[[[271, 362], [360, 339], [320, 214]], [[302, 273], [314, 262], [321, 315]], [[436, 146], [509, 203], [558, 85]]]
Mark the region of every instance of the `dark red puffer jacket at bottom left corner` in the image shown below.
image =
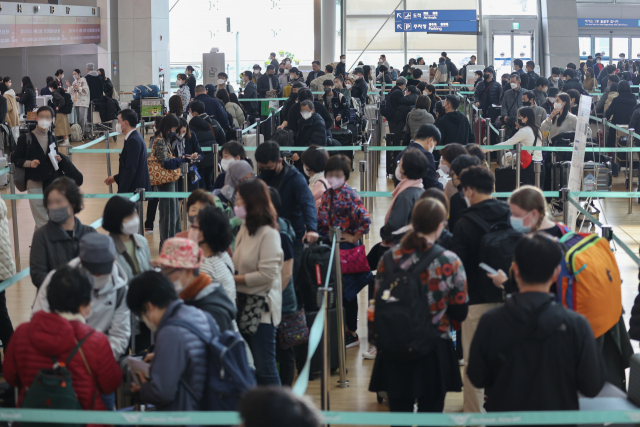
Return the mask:
[[[18, 327], [5, 352], [3, 366], [6, 381], [20, 388], [18, 407], [38, 371], [52, 367], [51, 356], [59, 362], [64, 362], [75, 347], [75, 340], [80, 341], [92, 330], [80, 321], [68, 321], [58, 314], [44, 311], [37, 312], [31, 322]], [[107, 337], [101, 332], [93, 332], [80, 348], [91, 368], [93, 378], [89, 375], [78, 351], [67, 365], [73, 376], [73, 389], [82, 409], [104, 411], [100, 393], [116, 391], [122, 381], [122, 371], [113, 358]], [[92, 406], [96, 391], [97, 397]]]

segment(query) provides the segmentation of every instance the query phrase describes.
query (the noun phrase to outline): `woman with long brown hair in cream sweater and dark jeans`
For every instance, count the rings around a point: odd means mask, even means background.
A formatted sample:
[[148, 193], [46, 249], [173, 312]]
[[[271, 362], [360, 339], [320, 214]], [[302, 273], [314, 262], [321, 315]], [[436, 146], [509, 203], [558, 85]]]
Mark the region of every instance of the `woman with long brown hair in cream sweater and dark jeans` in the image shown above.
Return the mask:
[[[264, 181], [250, 179], [238, 186], [234, 212], [243, 220], [233, 251], [238, 312], [241, 313], [238, 326], [253, 353], [258, 385], [279, 386], [275, 337], [282, 313], [284, 255], [278, 214]], [[262, 297], [269, 310], [252, 308], [249, 295]], [[257, 325], [243, 319], [247, 317], [243, 314], [249, 311], [257, 315]]]

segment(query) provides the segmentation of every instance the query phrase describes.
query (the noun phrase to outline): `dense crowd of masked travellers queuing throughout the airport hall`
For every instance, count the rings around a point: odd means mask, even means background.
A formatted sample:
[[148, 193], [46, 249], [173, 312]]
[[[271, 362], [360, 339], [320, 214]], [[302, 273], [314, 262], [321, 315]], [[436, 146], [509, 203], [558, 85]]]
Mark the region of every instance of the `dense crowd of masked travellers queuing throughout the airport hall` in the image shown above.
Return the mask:
[[[525, 71], [516, 60], [515, 72], [501, 76], [502, 84], [492, 67], [478, 75], [476, 105], [507, 130], [503, 144], [521, 143], [530, 155], [522, 187], [505, 202], [492, 198], [496, 178], [459, 111], [459, 97], [441, 98], [433, 86], [466, 79], [466, 67], [458, 76], [446, 52], [427, 80], [414, 67], [424, 64], [422, 58], [394, 76], [384, 55], [377, 68], [358, 66], [352, 72], [343, 55], [324, 71], [315, 61], [305, 80], [291, 60], [279, 63], [275, 57], [270, 55], [265, 74], [258, 65], [243, 73], [240, 98], [225, 73], [217, 85], [205, 87], [187, 67], [148, 145], [136, 130], [138, 114], [119, 113], [124, 148], [118, 174], [105, 184], [116, 184], [118, 193], [141, 188], [191, 193], [183, 206], [178, 198], [149, 201], [142, 228], [153, 233], [159, 210], [156, 260], [139, 234], [134, 202], [118, 195], [109, 199], [102, 223], [108, 235], [78, 219], [84, 207], [81, 182], [70, 167], [59, 172], [48, 155], [58, 144], [57, 128], [51, 127], [57, 113], [50, 107], [37, 110], [38, 126], [18, 139], [13, 159], [25, 169], [28, 192], [43, 194], [43, 200], [30, 200], [36, 219], [30, 274], [37, 297], [31, 321], [15, 332], [0, 293], [3, 372], [19, 391], [18, 406], [33, 402], [30, 386], [41, 370], [64, 363], [79, 407], [113, 410], [115, 391], [130, 378], [123, 376], [127, 365], [121, 362], [134, 355], [150, 368], [124, 387], [141, 402], [160, 411], [210, 410], [205, 400], [212, 395], [215, 341], [233, 358], [234, 374], [250, 373], [246, 394], [233, 395], [233, 408], [226, 407], [236, 409], [239, 403], [246, 426], [318, 425], [312, 407], [279, 387], [292, 385], [306, 353], [300, 335], [308, 331], [306, 316], [312, 314], [305, 314], [302, 279], [309, 273], [304, 271], [309, 247], [329, 243], [334, 227], [341, 232], [338, 247], [352, 264], [340, 266], [344, 344], [360, 345], [358, 295], [368, 286], [375, 319], [363, 353], [374, 360], [369, 390], [386, 393], [392, 412], [412, 412], [416, 404], [419, 412], [442, 412], [446, 394], [460, 391], [465, 412], [570, 410], [578, 409], [578, 393], [596, 396], [605, 381], [626, 388], [632, 350], [621, 311], [604, 307], [616, 323], [595, 335], [592, 319], [563, 307], [556, 296], [563, 238], [570, 230], [554, 221], [541, 189], [531, 185], [533, 164], [543, 159], [526, 147], [575, 132], [575, 108], [597, 69], [603, 97], [616, 95], [604, 109], [607, 120], [633, 120], [637, 102], [631, 79], [616, 74], [628, 77], [635, 65], [600, 67], [596, 57], [593, 67], [568, 64], [562, 72], [553, 68], [547, 79], [535, 73], [532, 61]], [[279, 76], [276, 70], [282, 70]], [[59, 71], [48, 86], [54, 99], [63, 78]], [[68, 85], [72, 94], [89, 96], [92, 87], [104, 85], [98, 73], [89, 72], [97, 79], [91, 82], [76, 71], [74, 85]], [[361, 111], [378, 102], [370, 93], [378, 90], [376, 82], [391, 87], [380, 106], [393, 135], [387, 144], [405, 148], [393, 158], [394, 170], [387, 171], [395, 189], [379, 229], [381, 242], [366, 254], [363, 236], [372, 233], [371, 212], [349, 183], [352, 160], [325, 146], [333, 130], [353, 120], [354, 105]], [[324, 95], [314, 96], [317, 91]], [[255, 151], [255, 174], [253, 161], [229, 131], [261, 114], [257, 103], [243, 97], [283, 93], [288, 93], [286, 114], [273, 135], [292, 131], [295, 145], [306, 149], [285, 159], [278, 142], [266, 140]], [[625, 93], [634, 97], [633, 105]], [[59, 102], [66, 102], [66, 94], [58, 93]], [[220, 145], [218, 163], [202, 150], [214, 144]], [[68, 161], [60, 154], [54, 158]], [[185, 162], [198, 174], [181, 188], [176, 171]], [[188, 217], [186, 230], [181, 210]], [[8, 234], [6, 205], [0, 201], [0, 239]], [[498, 251], [488, 250], [491, 244], [511, 246], [498, 260]], [[0, 279], [10, 277], [15, 273], [10, 245], [3, 245], [0, 255], [8, 258]], [[315, 278], [315, 267], [312, 274]], [[255, 384], [260, 387], [253, 389]], [[217, 404], [231, 405], [213, 391]]]

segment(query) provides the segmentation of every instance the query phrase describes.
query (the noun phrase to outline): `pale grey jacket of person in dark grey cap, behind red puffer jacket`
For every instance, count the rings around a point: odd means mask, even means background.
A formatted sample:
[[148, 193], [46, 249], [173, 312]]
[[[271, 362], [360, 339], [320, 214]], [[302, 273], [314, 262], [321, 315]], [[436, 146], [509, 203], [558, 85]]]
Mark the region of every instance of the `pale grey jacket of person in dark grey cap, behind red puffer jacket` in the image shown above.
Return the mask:
[[[80, 258], [69, 261], [70, 267], [80, 264]], [[47, 288], [56, 270], [51, 271], [42, 282], [32, 314], [36, 311], [49, 311]], [[91, 314], [87, 324], [96, 331], [104, 333], [109, 339], [113, 356], [116, 360], [122, 356], [129, 345], [131, 337], [131, 312], [127, 307], [127, 276], [117, 262], [113, 263], [111, 280], [102, 289], [94, 289], [91, 294]]]

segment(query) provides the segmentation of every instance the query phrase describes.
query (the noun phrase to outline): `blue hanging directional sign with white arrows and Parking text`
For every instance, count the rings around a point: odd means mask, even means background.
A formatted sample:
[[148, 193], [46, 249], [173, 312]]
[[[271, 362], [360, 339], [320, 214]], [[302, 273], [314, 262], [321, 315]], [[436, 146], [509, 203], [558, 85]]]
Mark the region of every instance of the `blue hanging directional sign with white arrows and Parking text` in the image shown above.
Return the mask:
[[474, 9], [396, 10], [396, 33], [477, 33]]

